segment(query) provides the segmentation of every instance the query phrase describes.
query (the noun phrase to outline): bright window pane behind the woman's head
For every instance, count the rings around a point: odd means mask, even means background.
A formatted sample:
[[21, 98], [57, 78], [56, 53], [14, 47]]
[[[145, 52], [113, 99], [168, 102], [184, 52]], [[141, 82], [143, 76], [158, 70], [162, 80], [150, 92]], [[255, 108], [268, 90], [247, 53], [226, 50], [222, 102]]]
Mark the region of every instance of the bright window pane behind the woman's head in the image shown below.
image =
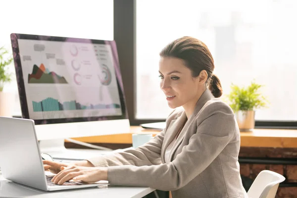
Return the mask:
[[136, 8], [136, 119], [167, 117], [158, 54], [171, 41], [192, 36], [214, 57], [222, 98], [231, 83], [246, 86], [255, 79], [270, 101], [256, 120], [297, 120], [297, 1], [152, 0], [137, 1]]

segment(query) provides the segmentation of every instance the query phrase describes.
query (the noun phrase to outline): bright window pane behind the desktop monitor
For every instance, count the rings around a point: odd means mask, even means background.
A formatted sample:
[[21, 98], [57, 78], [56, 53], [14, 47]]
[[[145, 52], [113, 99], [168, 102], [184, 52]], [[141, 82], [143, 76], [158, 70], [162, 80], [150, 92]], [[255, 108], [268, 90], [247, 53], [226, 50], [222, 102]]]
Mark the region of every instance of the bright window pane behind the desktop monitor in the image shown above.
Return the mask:
[[[4, 0], [0, 13], [0, 46], [10, 51], [11, 33], [113, 40], [113, 0]], [[20, 115], [15, 77], [3, 91], [16, 93], [14, 114]]]

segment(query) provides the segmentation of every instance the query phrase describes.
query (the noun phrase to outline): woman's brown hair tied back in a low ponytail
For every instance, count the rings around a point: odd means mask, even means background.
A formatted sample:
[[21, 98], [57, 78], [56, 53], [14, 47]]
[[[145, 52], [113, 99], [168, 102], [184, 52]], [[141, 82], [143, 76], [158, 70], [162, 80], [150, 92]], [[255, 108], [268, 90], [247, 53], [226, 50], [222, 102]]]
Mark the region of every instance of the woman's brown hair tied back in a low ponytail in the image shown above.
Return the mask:
[[202, 70], [205, 70], [208, 89], [215, 98], [222, 96], [221, 82], [215, 74], [212, 74], [214, 69], [212, 55], [203, 42], [193, 37], [182, 37], [162, 49], [160, 56], [184, 60], [185, 65], [191, 69], [193, 77], [197, 77]]

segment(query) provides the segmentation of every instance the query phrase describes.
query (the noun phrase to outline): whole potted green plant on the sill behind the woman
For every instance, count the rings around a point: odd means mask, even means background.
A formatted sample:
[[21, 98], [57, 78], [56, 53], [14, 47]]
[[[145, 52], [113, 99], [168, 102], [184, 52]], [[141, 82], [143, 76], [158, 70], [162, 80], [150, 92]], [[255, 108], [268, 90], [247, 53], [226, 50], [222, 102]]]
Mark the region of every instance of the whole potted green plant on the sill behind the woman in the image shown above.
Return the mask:
[[255, 126], [255, 109], [266, 107], [268, 100], [259, 93], [263, 85], [254, 81], [247, 87], [231, 85], [227, 96], [233, 109], [240, 131], [252, 131]]

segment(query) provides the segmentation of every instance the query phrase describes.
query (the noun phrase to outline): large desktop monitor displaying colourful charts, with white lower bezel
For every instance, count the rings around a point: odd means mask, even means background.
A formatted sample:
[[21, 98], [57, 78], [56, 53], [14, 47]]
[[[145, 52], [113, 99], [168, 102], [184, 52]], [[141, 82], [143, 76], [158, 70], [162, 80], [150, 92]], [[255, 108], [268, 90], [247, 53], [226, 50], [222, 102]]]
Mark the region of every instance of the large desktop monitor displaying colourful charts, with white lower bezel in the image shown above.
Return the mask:
[[22, 117], [38, 140], [129, 132], [114, 41], [10, 37]]

